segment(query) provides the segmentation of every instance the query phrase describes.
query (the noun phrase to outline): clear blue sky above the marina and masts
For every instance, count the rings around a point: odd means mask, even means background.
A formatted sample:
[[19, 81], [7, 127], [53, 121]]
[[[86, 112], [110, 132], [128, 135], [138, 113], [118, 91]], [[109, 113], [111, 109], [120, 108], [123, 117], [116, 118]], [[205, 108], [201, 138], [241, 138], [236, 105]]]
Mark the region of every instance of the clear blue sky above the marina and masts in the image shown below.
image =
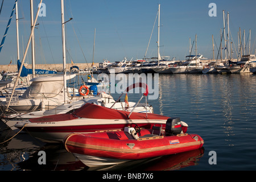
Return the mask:
[[[2, 3], [2, 1], [0, 1]], [[34, 1], [34, 14], [39, 0]], [[46, 0], [46, 16], [39, 17], [35, 29], [35, 51], [37, 64], [62, 62], [60, 0]], [[220, 30], [223, 28], [222, 10], [229, 11], [229, 27], [233, 46], [238, 47], [237, 32], [245, 30], [246, 47], [256, 48], [256, 1], [171, 1], [171, 0], [65, 0], [65, 24], [67, 40], [67, 63], [92, 63], [93, 38], [96, 28], [94, 62], [142, 59], [145, 55], [151, 31], [160, 4], [160, 55], [184, 60], [197, 34], [197, 52], [212, 59], [212, 35], [215, 58], [220, 46]], [[210, 17], [209, 3], [216, 3], [217, 16]], [[14, 0], [4, 1], [0, 15], [0, 38], [5, 32]], [[19, 40], [20, 59], [30, 35], [30, 1], [20, 0]], [[147, 57], [157, 55], [158, 22], [156, 22]], [[16, 64], [15, 15], [12, 19], [5, 44], [0, 52], [0, 64]], [[226, 31], [227, 32], [227, 31]], [[231, 41], [231, 40], [230, 40]], [[194, 46], [195, 48], [195, 46]], [[234, 48], [234, 47], [233, 47]], [[233, 57], [236, 57], [234, 52]], [[26, 58], [31, 64], [31, 49]]]

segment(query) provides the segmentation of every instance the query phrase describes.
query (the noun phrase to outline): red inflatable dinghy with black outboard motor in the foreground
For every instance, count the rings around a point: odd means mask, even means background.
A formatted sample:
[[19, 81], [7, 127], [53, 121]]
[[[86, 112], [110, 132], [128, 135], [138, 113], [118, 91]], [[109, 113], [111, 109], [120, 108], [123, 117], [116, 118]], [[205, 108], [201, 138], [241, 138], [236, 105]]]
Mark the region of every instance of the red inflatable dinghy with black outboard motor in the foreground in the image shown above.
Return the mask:
[[74, 133], [64, 140], [66, 150], [88, 167], [177, 154], [196, 150], [203, 144], [199, 135], [183, 132], [179, 118], [167, 119], [164, 133], [162, 125], [152, 129], [140, 129], [135, 125], [135, 128], [125, 127], [124, 130]]

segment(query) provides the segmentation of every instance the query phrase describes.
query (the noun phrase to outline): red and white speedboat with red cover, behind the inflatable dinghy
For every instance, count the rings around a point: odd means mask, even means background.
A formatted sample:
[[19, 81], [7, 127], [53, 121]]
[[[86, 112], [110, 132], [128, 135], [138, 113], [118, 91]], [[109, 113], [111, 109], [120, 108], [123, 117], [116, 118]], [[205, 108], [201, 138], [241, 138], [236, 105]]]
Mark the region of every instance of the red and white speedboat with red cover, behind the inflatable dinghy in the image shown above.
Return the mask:
[[[142, 87], [146, 91], [142, 97], [147, 96], [146, 84], [137, 83], [130, 85], [126, 92], [135, 87]], [[141, 99], [142, 99], [141, 97]], [[48, 115], [40, 118], [32, 118], [28, 121], [17, 122], [15, 127], [24, 129], [35, 138], [47, 143], [63, 142], [65, 136], [71, 133], [93, 133], [94, 131], [123, 130], [131, 123], [137, 123], [139, 127], [150, 129], [155, 123], [161, 123], [163, 128], [170, 117], [152, 113], [137, 113], [135, 107], [131, 111], [123, 111], [87, 103], [73, 113]], [[119, 100], [119, 99], [118, 99]], [[115, 103], [114, 103], [115, 104]], [[113, 104], [113, 105], [114, 105]], [[187, 124], [181, 122], [184, 129]]]

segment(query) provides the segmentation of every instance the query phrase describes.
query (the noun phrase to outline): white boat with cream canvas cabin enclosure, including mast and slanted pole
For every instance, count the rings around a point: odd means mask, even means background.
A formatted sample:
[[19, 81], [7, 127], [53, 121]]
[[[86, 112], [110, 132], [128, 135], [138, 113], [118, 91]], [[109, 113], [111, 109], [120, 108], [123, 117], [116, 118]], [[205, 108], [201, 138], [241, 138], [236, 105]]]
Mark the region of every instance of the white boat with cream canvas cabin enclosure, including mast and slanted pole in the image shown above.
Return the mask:
[[[42, 3], [42, 1], [41, 1]], [[63, 4], [63, 2], [61, 2]], [[64, 6], [64, 5], [62, 5]], [[61, 6], [61, 7], [62, 7]], [[40, 7], [40, 6], [39, 6]], [[39, 8], [36, 14], [35, 23], [38, 19]], [[54, 107], [66, 104], [71, 102], [72, 100], [80, 100], [82, 98], [89, 97], [84, 94], [80, 94], [80, 96], [70, 96], [69, 89], [67, 88], [67, 80], [75, 77], [76, 75], [68, 75], [66, 74], [65, 69], [65, 32], [64, 32], [64, 7], [61, 9], [61, 21], [62, 21], [62, 38], [63, 38], [63, 75], [57, 76], [40, 76], [34, 77], [30, 80], [32, 83], [30, 87], [23, 93], [22, 97], [17, 97], [14, 94], [14, 90], [16, 85], [18, 84], [19, 77], [21, 76], [22, 69], [19, 69], [18, 76], [15, 80], [15, 84], [13, 87], [13, 92], [11, 92], [10, 96], [6, 98], [6, 101], [0, 102], [1, 114], [18, 112], [28, 112], [35, 111], [38, 109], [44, 108], [44, 104], [47, 105], [49, 109], [53, 109]], [[28, 44], [26, 47], [26, 51], [24, 52], [22, 63], [20, 63], [20, 68], [23, 67], [24, 59], [26, 57], [28, 47], [30, 45], [32, 35], [34, 35], [35, 23], [31, 28], [30, 38], [28, 40]]]

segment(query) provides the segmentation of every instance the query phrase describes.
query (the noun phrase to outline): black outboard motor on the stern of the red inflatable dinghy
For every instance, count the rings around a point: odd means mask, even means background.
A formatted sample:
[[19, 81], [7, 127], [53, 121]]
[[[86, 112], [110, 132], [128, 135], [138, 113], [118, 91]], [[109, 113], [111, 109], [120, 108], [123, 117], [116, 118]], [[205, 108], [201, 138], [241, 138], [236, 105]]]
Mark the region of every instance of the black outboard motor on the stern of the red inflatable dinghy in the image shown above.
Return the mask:
[[180, 134], [181, 122], [180, 118], [168, 118], [166, 121], [166, 136]]

